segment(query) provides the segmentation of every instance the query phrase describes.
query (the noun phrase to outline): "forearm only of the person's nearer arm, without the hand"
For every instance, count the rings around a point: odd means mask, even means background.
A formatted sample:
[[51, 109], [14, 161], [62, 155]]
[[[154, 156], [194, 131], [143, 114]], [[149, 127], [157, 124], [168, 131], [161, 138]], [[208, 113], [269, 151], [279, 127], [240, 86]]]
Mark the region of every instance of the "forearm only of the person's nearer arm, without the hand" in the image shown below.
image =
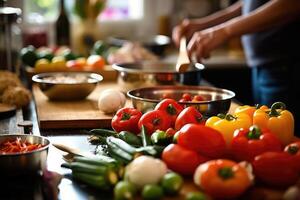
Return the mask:
[[267, 30], [300, 17], [299, 0], [273, 0], [249, 15], [236, 17], [222, 24], [229, 37]]

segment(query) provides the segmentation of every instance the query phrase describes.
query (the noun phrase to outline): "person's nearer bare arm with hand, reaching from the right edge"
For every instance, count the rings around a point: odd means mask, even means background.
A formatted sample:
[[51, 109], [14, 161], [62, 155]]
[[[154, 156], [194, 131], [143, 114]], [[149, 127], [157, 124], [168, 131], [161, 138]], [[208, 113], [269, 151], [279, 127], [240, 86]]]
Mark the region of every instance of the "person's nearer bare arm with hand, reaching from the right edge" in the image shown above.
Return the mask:
[[201, 62], [213, 49], [232, 37], [267, 30], [299, 17], [299, 0], [272, 0], [248, 15], [196, 32], [188, 44], [189, 56], [195, 53], [197, 61]]

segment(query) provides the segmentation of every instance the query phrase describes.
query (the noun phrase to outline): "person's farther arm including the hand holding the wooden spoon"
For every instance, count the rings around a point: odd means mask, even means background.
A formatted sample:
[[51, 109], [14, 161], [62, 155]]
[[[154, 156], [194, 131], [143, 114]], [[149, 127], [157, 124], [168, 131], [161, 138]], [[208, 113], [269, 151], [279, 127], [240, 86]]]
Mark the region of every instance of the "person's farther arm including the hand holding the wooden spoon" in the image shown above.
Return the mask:
[[199, 19], [185, 19], [173, 29], [172, 38], [177, 46], [182, 36], [191, 38], [193, 33], [200, 31], [241, 15], [242, 1], [238, 1], [228, 8]]

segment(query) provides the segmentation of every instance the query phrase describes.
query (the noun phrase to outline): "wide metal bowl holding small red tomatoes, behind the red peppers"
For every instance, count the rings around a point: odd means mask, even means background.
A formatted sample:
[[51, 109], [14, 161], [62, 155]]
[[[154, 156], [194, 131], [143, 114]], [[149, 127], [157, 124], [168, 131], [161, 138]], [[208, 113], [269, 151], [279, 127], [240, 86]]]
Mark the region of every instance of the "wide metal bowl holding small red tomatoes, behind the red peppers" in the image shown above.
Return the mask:
[[[210, 86], [156, 86], [130, 90], [127, 95], [133, 107], [142, 112], [153, 110], [162, 99], [171, 98], [184, 106], [196, 106], [205, 117], [210, 117], [227, 113], [235, 93]], [[185, 95], [191, 99], [185, 100]]]

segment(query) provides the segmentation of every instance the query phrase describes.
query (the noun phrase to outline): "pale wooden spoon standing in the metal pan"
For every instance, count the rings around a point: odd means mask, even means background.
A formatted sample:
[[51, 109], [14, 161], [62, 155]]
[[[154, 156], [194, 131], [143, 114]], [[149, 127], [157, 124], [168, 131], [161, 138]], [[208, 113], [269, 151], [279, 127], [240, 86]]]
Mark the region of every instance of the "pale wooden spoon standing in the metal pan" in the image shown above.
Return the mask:
[[186, 38], [182, 37], [180, 39], [179, 55], [176, 63], [176, 71], [181, 73], [185, 72], [189, 68], [190, 63], [191, 61], [188, 56], [187, 48], [186, 48]]

